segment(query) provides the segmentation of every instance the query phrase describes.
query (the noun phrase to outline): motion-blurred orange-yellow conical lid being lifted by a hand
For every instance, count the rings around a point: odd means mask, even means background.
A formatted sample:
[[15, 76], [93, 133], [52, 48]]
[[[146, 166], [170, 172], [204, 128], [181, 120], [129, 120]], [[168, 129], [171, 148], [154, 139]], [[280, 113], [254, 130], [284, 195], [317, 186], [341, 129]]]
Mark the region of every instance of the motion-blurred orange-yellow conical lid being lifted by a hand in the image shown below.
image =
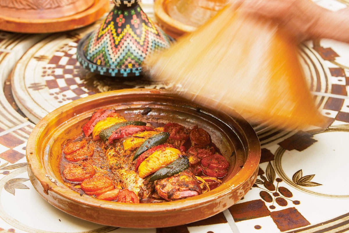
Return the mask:
[[156, 81], [176, 83], [179, 94], [202, 105], [283, 128], [324, 124], [295, 41], [273, 22], [231, 7], [144, 64]]

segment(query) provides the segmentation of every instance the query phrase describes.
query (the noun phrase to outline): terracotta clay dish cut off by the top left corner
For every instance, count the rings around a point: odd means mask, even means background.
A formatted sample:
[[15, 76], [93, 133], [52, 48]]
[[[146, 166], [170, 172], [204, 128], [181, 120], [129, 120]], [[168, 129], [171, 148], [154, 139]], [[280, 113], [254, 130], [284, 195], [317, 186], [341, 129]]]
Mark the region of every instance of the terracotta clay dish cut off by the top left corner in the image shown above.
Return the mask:
[[50, 33], [87, 26], [109, 9], [109, 0], [1, 0], [0, 30]]

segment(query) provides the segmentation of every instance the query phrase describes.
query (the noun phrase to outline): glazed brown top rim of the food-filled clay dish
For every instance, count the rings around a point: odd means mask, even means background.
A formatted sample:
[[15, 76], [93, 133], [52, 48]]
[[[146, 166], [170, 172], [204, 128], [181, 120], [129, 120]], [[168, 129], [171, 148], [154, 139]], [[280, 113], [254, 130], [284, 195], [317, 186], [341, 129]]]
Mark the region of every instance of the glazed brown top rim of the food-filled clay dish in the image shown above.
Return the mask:
[[[79, 193], [69, 189], [65, 185], [57, 185], [52, 180], [47, 173], [45, 168], [42, 166], [42, 161], [37, 158], [37, 144], [40, 134], [43, 132], [46, 123], [50, 122], [56, 115], [62, 114], [63, 109], [73, 108], [76, 105], [92, 102], [96, 97], [103, 96], [107, 97], [117, 97], [120, 95], [134, 95], [134, 94], [144, 94], [144, 92], [149, 92], [149, 94], [159, 94], [163, 96], [173, 96], [173, 94], [168, 90], [158, 90], [158, 89], [123, 89], [115, 90], [111, 92], [104, 92], [95, 95], [91, 95], [82, 99], [75, 100], [70, 102], [60, 108], [55, 109], [41, 119], [35, 128], [32, 130], [26, 149], [27, 161], [28, 161], [28, 170], [30, 169], [32, 174], [38, 179], [41, 184], [45, 184], [48, 192], [55, 192], [61, 197], [69, 199], [71, 201], [98, 208], [104, 208], [108, 210], [119, 210], [119, 211], [132, 211], [132, 212], [162, 212], [173, 209], [191, 209], [192, 207], [200, 205], [205, 205], [206, 203], [212, 201], [213, 199], [221, 198], [226, 194], [229, 194], [233, 189], [239, 188], [243, 185], [251, 176], [254, 175], [256, 170], [259, 167], [260, 153], [261, 148], [257, 134], [254, 132], [252, 126], [248, 124], [243, 118], [234, 118], [233, 121], [237, 122], [240, 128], [244, 128], [244, 133], [246, 135], [246, 140], [248, 141], [249, 147], [246, 162], [242, 169], [231, 179], [223, 182], [219, 187], [215, 189], [215, 192], [207, 192], [201, 194], [200, 196], [191, 197], [183, 200], [177, 200], [173, 202], [163, 202], [163, 203], [142, 203], [142, 204], [131, 204], [131, 203], [118, 203], [103, 201], [96, 198], [91, 198], [86, 195], [80, 196]], [[243, 126], [243, 127], [242, 127]], [[51, 178], [51, 179], [50, 179]], [[32, 179], [31, 179], [31, 182]], [[35, 187], [35, 185], [34, 185]], [[38, 190], [37, 190], [38, 191]], [[39, 191], [38, 191], [39, 192]], [[41, 193], [41, 192], [39, 192]], [[47, 195], [49, 196], [49, 195]], [[46, 200], [47, 198], [43, 196]], [[227, 206], [229, 207], [229, 206]], [[199, 220], [199, 219], [198, 219]]]

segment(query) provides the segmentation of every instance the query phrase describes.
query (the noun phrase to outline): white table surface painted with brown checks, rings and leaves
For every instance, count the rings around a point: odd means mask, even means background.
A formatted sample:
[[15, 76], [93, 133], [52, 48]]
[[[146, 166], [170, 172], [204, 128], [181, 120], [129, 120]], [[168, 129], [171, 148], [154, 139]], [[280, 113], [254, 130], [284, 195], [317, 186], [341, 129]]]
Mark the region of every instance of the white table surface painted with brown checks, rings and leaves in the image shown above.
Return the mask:
[[[315, 2], [331, 10], [349, 7], [347, 0]], [[142, 4], [153, 17], [151, 0]], [[304, 43], [299, 58], [314, 100], [331, 123], [300, 132], [255, 124], [262, 144], [258, 179], [241, 201], [222, 213], [183, 226], [136, 230], [77, 219], [44, 201], [27, 174], [25, 146], [35, 126], [31, 122], [94, 93], [167, 88], [146, 80], [115, 82], [82, 70], [76, 44], [98, 23], [50, 35], [0, 32], [0, 232], [349, 231], [349, 45], [328, 39]]]

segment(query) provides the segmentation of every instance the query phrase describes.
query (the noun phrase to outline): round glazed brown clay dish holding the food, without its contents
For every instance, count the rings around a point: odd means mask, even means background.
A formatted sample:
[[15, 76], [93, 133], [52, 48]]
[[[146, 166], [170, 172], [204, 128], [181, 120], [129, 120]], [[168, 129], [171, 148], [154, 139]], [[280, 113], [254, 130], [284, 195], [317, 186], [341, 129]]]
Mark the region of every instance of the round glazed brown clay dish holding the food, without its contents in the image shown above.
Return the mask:
[[[82, 125], [92, 112], [110, 107], [127, 119], [200, 125], [231, 163], [222, 185], [199, 196], [152, 204], [103, 201], [80, 196], [69, 189], [60, 176], [61, 145], [81, 133]], [[151, 111], [141, 115], [147, 107]], [[68, 103], [45, 116], [35, 126], [27, 144], [29, 178], [46, 201], [82, 219], [132, 228], [182, 225], [227, 209], [239, 201], [255, 182], [260, 153], [257, 135], [244, 119], [200, 108], [169, 91], [155, 89], [117, 90]]]

